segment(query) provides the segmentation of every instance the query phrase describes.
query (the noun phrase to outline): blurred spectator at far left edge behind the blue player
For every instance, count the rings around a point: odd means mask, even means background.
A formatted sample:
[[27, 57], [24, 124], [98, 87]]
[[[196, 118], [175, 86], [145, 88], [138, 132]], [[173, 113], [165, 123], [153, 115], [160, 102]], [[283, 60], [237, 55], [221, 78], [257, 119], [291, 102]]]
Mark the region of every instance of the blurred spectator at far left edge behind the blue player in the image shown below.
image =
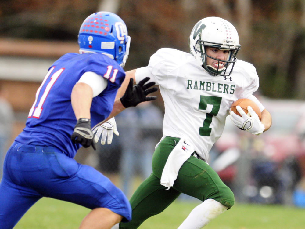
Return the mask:
[[3, 161], [12, 136], [14, 112], [6, 100], [7, 92], [0, 86], [0, 180], [2, 179]]

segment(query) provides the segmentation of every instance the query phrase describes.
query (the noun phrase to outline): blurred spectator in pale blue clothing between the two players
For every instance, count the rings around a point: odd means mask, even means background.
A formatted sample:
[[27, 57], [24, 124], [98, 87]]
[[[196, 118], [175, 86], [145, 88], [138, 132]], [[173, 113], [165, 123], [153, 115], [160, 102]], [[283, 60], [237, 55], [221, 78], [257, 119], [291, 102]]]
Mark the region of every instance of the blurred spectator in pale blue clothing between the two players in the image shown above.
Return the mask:
[[116, 116], [121, 145], [120, 174], [122, 191], [131, 194], [132, 178], [139, 171], [144, 180], [152, 173], [151, 161], [162, 137], [163, 114], [150, 101], [131, 107]]

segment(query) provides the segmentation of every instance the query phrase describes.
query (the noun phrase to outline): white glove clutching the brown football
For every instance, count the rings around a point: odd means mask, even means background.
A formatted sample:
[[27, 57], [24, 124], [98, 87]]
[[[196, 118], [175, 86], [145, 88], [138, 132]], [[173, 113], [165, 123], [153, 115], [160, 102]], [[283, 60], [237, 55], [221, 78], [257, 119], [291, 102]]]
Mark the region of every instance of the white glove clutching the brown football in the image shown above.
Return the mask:
[[260, 122], [258, 115], [253, 111], [252, 107], [247, 107], [250, 116], [248, 116], [240, 106], [236, 106], [236, 110], [242, 117], [236, 115], [234, 111], [230, 111], [230, 119], [234, 125], [240, 129], [246, 130], [254, 135], [263, 133], [265, 126]]

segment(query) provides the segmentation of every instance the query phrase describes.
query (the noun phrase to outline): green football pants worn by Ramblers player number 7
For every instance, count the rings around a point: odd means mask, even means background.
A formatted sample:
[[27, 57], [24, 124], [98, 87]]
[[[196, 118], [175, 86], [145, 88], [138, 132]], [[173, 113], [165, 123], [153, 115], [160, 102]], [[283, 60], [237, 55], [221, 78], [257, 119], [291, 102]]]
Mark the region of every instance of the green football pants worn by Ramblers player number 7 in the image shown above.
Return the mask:
[[229, 209], [234, 204], [234, 194], [230, 188], [206, 162], [194, 156], [181, 166], [173, 187], [167, 190], [160, 184], [168, 155], [179, 140], [165, 137], [159, 143], [152, 156], [152, 174], [140, 184], [129, 201], [132, 219], [128, 223], [120, 223], [120, 229], [138, 228], [146, 219], [166, 209], [181, 193], [201, 201], [214, 199]]

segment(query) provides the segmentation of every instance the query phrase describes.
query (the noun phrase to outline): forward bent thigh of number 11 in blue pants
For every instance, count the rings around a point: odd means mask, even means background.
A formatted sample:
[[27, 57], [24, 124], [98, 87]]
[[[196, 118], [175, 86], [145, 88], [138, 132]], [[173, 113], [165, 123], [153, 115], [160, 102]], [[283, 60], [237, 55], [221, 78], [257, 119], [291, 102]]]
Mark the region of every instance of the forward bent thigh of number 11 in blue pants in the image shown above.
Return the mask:
[[35, 187], [39, 193], [90, 209], [108, 208], [127, 220], [131, 219], [127, 197], [102, 173], [91, 166], [77, 163], [65, 154], [45, 154], [45, 160], [48, 170], [30, 179], [33, 186], [40, 182]]

